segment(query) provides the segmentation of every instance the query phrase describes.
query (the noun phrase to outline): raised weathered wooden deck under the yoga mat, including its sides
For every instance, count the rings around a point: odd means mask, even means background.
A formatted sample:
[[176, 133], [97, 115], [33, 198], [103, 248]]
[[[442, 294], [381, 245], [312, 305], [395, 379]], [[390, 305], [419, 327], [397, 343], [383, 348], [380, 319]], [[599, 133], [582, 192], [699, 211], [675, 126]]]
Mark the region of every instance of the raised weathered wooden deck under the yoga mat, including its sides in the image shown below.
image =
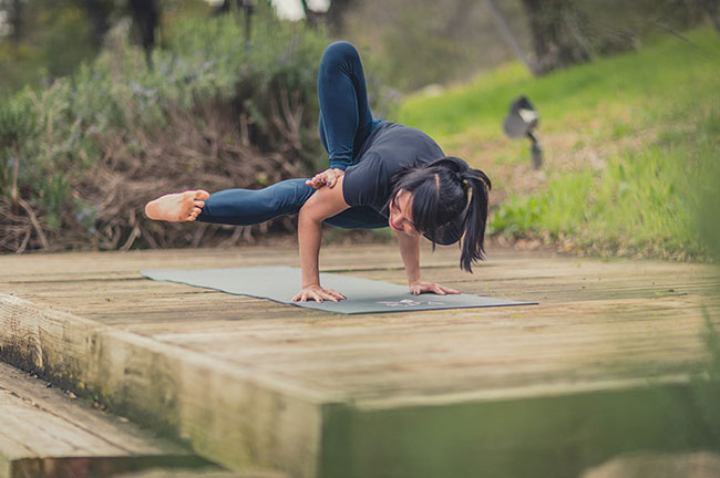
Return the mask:
[[[425, 279], [539, 305], [339, 316], [137, 273], [298, 266], [294, 249], [0, 260], [3, 360], [234, 469], [577, 476], [707, 444], [688, 371], [703, 310], [720, 316], [709, 266], [496, 250], [470, 276], [443, 248]], [[404, 282], [389, 246], [327, 248], [321, 267]]]

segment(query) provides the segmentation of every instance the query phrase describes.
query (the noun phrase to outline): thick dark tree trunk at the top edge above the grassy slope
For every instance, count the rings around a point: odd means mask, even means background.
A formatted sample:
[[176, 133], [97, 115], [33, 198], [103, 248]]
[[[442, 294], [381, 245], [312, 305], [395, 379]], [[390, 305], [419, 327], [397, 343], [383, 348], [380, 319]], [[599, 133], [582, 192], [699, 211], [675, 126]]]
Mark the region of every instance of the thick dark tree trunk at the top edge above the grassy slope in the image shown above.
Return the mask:
[[573, 0], [523, 0], [533, 41], [533, 73], [541, 75], [592, 59]]

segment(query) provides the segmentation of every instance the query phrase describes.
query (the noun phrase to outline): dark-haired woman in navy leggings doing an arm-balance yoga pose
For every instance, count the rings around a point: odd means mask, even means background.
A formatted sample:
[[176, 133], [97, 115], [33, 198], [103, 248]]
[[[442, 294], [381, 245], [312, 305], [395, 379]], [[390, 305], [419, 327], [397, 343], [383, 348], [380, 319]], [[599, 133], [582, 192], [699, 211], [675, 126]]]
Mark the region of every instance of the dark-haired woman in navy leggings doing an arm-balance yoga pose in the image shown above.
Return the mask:
[[440, 245], [462, 239], [461, 268], [483, 258], [491, 181], [442, 149], [424, 133], [373, 119], [364, 74], [354, 46], [328, 46], [318, 74], [320, 138], [330, 168], [311, 179], [288, 179], [259, 190], [213, 195], [188, 190], [145, 207], [151, 219], [246, 226], [299, 214], [302, 289], [294, 301], [344, 299], [320, 285], [318, 256], [322, 222], [342, 228], [390, 226], [398, 235], [413, 294], [460, 293], [420, 278], [420, 236]]

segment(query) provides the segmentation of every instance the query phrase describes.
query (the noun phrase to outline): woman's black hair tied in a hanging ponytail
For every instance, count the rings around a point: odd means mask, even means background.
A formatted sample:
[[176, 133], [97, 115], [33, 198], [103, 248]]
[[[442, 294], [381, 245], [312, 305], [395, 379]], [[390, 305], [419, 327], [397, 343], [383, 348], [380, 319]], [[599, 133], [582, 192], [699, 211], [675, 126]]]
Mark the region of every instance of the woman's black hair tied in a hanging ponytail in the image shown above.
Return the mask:
[[412, 216], [419, 231], [435, 243], [454, 243], [462, 238], [460, 267], [472, 264], [485, 253], [485, 227], [492, 183], [463, 159], [448, 156], [425, 165], [407, 167], [393, 178], [390, 201], [400, 190], [412, 195]]

